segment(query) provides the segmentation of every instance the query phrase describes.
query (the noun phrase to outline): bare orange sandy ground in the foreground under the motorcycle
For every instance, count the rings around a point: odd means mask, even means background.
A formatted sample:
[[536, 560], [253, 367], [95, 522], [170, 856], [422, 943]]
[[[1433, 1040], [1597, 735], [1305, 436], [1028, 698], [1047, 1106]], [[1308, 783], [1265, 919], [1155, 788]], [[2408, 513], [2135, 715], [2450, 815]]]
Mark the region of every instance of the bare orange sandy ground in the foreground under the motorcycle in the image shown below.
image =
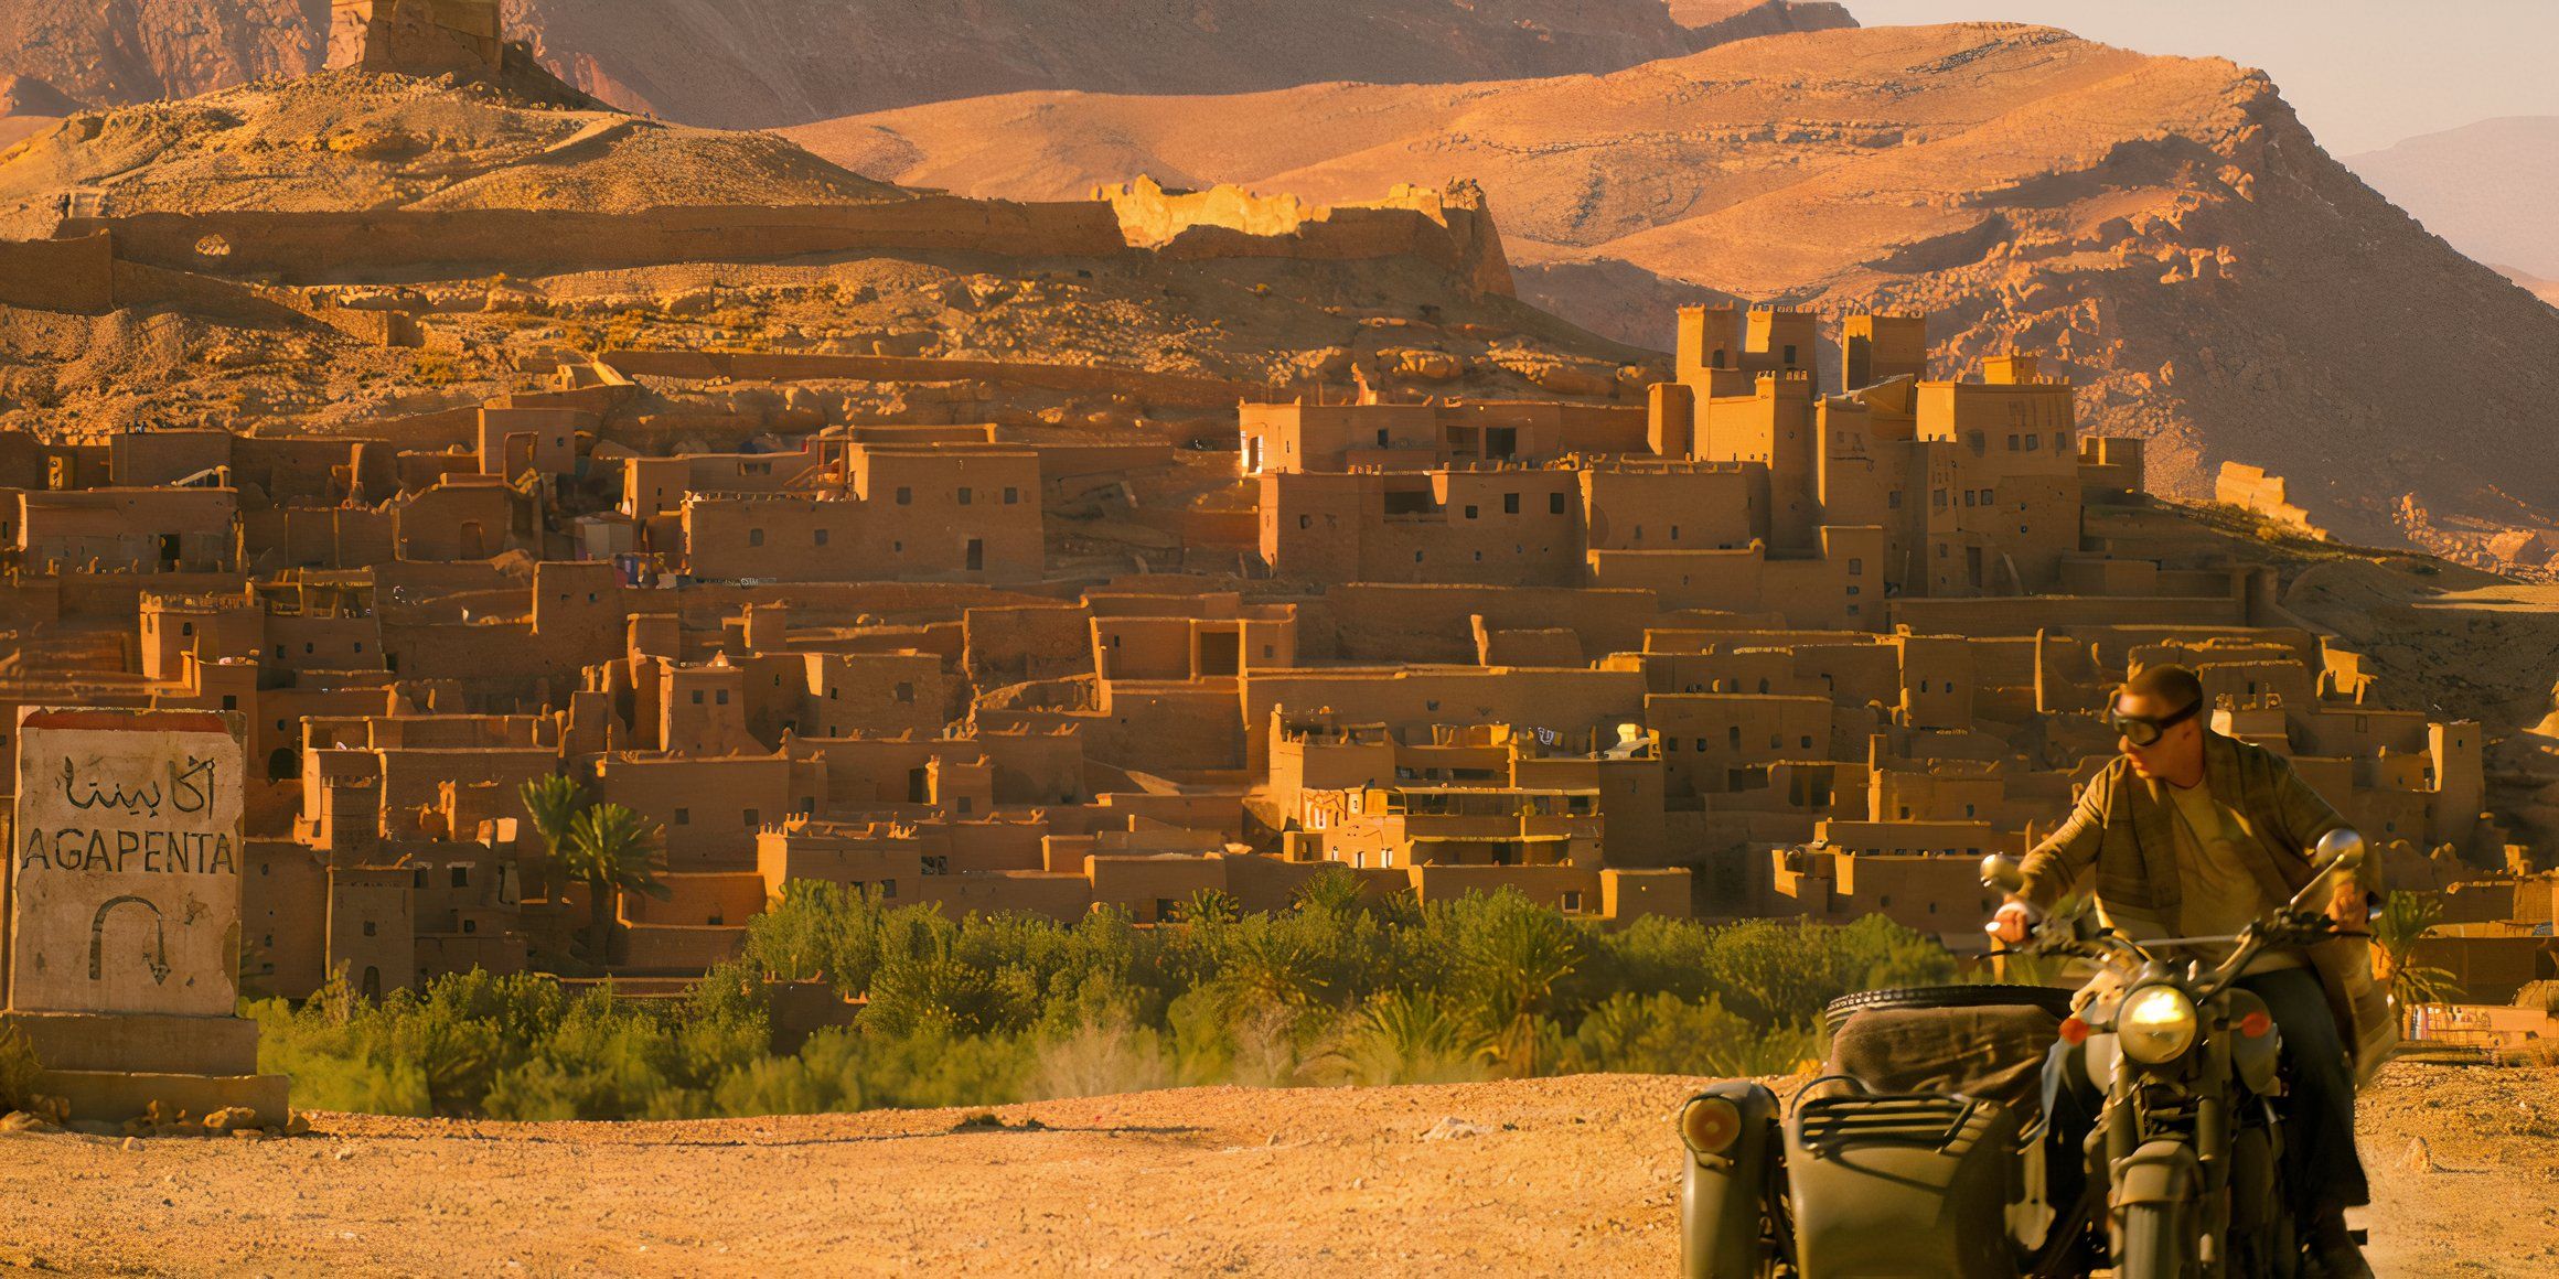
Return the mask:
[[[1671, 1274], [1694, 1079], [1185, 1090], [711, 1123], [317, 1115], [0, 1136], [0, 1269], [72, 1274]], [[2382, 1274], [2559, 1274], [2559, 1077], [2398, 1064]], [[1425, 1138], [1443, 1118], [1479, 1136]], [[1026, 1120], [1036, 1120], [1031, 1128]], [[2408, 1159], [2426, 1141], [2426, 1172]]]

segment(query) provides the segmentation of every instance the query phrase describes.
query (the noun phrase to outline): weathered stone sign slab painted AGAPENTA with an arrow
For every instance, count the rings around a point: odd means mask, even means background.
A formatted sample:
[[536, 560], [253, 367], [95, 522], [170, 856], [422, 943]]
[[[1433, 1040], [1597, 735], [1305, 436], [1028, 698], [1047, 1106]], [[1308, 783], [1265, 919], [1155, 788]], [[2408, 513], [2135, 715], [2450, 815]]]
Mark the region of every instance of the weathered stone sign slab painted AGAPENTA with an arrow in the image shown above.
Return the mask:
[[18, 714], [8, 1008], [233, 1016], [241, 716]]

